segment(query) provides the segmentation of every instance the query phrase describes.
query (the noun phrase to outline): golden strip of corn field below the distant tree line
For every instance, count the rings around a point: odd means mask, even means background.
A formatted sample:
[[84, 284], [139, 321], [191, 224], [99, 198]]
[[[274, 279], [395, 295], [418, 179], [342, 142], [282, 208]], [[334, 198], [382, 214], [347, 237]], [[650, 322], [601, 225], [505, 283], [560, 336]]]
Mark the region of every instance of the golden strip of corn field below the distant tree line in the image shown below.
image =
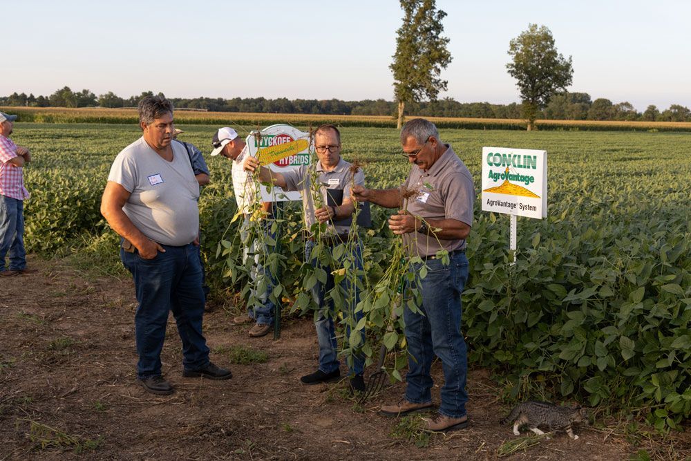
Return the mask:
[[[19, 122], [36, 123], [137, 123], [136, 109], [68, 109], [62, 107], [0, 107], [0, 111], [19, 115]], [[410, 116], [412, 117], [412, 116]], [[524, 130], [525, 120], [498, 118], [427, 117], [439, 128]], [[394, 117], [379, 115], [309, 115], [281, 113], [231, 113], [178, 111], [178, 123], [184, 124], [247, 124], [268, 126], [290, 123], [295, 126], [319, 126], [334, 123], [339, 126], [395, 128]], [[691, 122], [628, 122], [598, 120], [537, 120], [538, 129], [557, 131], [691, 131]]]

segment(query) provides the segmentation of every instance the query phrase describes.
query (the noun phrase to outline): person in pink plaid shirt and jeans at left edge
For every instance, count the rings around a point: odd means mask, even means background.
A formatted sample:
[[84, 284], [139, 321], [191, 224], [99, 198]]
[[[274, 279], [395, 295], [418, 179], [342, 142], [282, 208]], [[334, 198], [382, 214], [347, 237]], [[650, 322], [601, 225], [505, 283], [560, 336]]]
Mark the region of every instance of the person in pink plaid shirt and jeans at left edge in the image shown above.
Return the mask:
[[23, 166], [31, 161], [31, 154], [9, 138], [15, 120], [17, 115], [0, 112], [0, 276], [4, 277], [36, 272], [26, 267], [24, 251], [24, 200], [29, 192], [24, 187]]

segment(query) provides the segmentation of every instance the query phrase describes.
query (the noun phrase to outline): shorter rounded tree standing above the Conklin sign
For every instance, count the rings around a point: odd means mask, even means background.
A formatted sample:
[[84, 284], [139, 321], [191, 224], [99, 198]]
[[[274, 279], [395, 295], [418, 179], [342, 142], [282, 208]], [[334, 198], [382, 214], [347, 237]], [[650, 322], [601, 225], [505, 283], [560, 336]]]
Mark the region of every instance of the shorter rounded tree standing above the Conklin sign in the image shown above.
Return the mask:
[[554, 46], [552, 32], [537, 24], [529, 24], [528, 30], [509, 42], [511, 62], [507, 64], [509, 75], [518, 80], [523, 104], [523, 116], [528, 121], [528, 130], [535, 129], [538, 111], [543, 109], [549, 98], [571, 84], [574, 69], [571, 56], [565, 59]]

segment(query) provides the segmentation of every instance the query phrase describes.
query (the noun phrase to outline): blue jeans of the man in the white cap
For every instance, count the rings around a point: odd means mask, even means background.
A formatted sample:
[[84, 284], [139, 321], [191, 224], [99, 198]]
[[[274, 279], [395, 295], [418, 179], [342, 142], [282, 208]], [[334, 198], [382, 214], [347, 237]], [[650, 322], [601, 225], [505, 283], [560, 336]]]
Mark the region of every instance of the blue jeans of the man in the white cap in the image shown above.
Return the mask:
[[[265, 219], [261, 222], [261, 229], [264, 232], [264, 238], [272, 238], [276, 241], [276, 232], [271, 232], [274, 220]], [[252, 242], [248, 242], [249, 238], [249, 218], [245, 218], [242, 227], [240, 227], [240, 239], [245, 245], [245, 250], [243, 252], [243, 263], [247, 261], [250, 254], [254, 255], [254, 265], [252, 270], [249, 271], [249, 279], [252, 281], [252, 286], [256, 287], [257, 279], [259, 276], [267, 275], [267, 288], [266, 290], [257, 297], [256, 290], [251, 291], [252, 297], [256, 297], [259, 304], [247, 303], [247, 315], [251, 319], [254, 319], [256, 323], [260, 325], [273, 325], [274, 324], [274, 312], [276, 310], [276, 304], [271, 300], [271, 292], [274, 290], [274, 285], [276, 285], [276, 278], [269, 271], [264, 270], [264, 267], [259, 263], [258, 245], [260, 242], [255, 238]], [[265, 247], [265, 252], [269, 251], [269, 247]]]

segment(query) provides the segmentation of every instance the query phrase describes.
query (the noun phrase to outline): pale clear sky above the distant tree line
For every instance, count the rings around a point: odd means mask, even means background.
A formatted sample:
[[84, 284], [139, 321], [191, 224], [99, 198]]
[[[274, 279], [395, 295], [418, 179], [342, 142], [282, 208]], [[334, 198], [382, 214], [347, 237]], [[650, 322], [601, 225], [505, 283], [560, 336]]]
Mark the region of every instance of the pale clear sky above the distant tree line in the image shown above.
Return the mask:
[[[518, 102], [509, 40], [550, 28], [574, 58], [569, 91], [638, 111], [691, 107], [691, 1], [437, 0], [460, 102]], [[394, 0], [0, 0], [0, 95], [70, 86], [122, 97], [392, 99]]]

